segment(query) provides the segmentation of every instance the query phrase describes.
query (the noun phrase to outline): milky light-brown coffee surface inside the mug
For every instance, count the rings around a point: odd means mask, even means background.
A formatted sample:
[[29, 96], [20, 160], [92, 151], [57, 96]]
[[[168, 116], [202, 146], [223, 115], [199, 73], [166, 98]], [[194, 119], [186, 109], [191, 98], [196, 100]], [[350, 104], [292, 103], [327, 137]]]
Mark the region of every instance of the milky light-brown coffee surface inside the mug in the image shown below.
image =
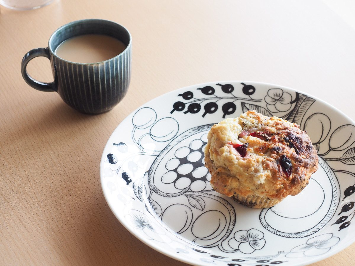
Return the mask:
[[126, 49], [122, 41], [107, 35], [87, 34], [63, 41], [54, 51], [61, 59], [75, 63], [98, 63]]

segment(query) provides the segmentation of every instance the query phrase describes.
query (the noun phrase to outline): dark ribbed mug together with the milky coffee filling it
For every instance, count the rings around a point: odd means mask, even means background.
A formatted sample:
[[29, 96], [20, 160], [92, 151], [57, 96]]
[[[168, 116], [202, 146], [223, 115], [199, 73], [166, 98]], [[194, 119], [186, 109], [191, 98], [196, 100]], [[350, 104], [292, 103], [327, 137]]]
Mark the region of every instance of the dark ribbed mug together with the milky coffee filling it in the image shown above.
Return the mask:
[[[80, 50], [80, 43], [81, 50], [86, 49], [86, 52], [75, 59], [75, 51], [70, 53], [70, 50], [75, 47]], [[131, 34], [120, 24], [96, 19], [74, 21], [57, 29], [47, 48], [33, 49], [23, 57], [22, 77], [35, 89], [58, 92], [68, 105], [80, 112], [103, 113], [111, 110], [127, 93], [131, 51]], [[28, 75], [26, 66], [37, 56], [50, 60], [54, 82], [40, 82]], [[80, 59], [83, 61], [75, 62]]]

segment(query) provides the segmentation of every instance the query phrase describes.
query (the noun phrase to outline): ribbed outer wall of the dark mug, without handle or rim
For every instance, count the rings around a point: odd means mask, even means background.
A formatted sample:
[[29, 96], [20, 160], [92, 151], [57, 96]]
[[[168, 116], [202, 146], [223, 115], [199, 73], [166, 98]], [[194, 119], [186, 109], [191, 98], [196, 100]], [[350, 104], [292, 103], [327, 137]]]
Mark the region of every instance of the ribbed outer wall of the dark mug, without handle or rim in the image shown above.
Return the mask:
[[79, 64], [53, 57], [58, 73], [58, 93], [74, 109], [83, 113], [111, 110], [127, 93], [131, 79], [131, 49], [113, 59]]

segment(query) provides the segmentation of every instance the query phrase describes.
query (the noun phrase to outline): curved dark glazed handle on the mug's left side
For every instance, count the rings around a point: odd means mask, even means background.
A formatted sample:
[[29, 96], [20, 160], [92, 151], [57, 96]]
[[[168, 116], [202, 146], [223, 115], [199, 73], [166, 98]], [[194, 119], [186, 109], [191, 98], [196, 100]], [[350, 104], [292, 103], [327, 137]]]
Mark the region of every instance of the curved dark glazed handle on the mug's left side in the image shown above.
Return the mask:
[[23, 79], [27, 82], [28, 85], [35, 88], [36, 90], [41, 90], [42, 92], [56, 92], [57, 90], [54, 82], [47, 83], [37, 81], [36, 79], [29, 76], [29, 74], [27, 73], [26, 67], [28, 62], [37, 56], [44, 56], [50, 60], [48, 47], [32, 49], [23, 57], [21, 62], [21, 73]]

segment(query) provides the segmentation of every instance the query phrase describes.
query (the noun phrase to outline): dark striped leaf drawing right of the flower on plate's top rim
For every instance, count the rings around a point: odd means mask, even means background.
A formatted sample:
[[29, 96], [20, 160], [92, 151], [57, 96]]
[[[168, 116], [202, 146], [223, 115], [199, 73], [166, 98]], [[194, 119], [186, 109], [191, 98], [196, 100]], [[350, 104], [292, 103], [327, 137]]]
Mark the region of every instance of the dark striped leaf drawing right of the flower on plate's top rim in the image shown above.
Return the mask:
[[284, 120], [300, 125], [306, 111], [316, 100], [308, 97], [307, 95], [296, 92], [296, 99], [292, 101], [291, 104], [295, 101], [296, 105], [294, 109], [282, 118]]

